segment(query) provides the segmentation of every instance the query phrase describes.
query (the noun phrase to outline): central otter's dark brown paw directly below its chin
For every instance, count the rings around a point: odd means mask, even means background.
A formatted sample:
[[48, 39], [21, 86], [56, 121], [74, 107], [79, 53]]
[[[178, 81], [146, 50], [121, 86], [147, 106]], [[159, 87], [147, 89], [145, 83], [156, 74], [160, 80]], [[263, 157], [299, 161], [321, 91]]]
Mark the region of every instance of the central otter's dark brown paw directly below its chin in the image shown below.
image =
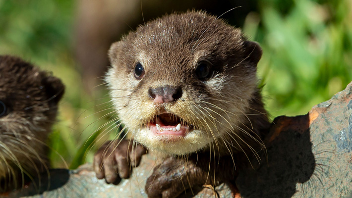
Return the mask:
[[148, 198], [176, 198], [186, 189], [210, 184], [207, 173], [193, 161], [169, 157], [154, 168], [145, 186]]

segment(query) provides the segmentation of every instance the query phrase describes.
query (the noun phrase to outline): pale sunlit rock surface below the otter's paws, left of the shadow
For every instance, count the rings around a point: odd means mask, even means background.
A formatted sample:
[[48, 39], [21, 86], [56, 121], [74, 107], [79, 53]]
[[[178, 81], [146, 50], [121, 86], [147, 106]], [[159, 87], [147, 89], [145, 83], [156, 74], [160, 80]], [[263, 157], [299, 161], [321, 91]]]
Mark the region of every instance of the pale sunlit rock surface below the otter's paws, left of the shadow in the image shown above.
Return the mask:
[[[92, 170], [91, 164], [84, 164], [76, 170], [52, 169], [50, 177], [41, 175], [41, 182], [36, 180], [22, 190], [11, 192], [3, 197], [18, 198], [147, 198], [144, 186], [147, 177], [152, 173], [155, 166], [152, 155], [143, 156], [142, 163], [133, 170], [130, 179], [122, 179], [118, 185], [107, 184], [104, 180], [98, 180]], [[37, 184], [37, 186], [33, 185]], [[42, 186], [38, 184], [43, 184]], [[48, 187], [49, 184], [49, 187]], [[38, 188], [39, 187], [39, 188]], [[230, 197], [231, 191], [226, 185], [217, 187], [221, 197]], [[211, 198], [213, 191], [206, 189], [193, 189], [200, 192], [197, 198]], [[39, 194], [38, 194], [39, 192]], [[36, 195], [38, 194], [38, 195]], [[187, 192], [182, 198], [193, 197]]]

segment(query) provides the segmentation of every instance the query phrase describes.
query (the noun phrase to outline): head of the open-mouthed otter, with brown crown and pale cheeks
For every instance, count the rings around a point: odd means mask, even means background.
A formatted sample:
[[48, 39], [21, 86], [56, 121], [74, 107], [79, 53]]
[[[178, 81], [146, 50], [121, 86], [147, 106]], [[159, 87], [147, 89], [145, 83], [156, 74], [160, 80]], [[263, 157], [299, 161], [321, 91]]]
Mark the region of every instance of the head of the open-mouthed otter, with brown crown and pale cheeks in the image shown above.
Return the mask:
[[106, 81], [120, 121], [147, 148], [239, 146], [260, 47], [203, 12], [151, 21], [112, 45]]

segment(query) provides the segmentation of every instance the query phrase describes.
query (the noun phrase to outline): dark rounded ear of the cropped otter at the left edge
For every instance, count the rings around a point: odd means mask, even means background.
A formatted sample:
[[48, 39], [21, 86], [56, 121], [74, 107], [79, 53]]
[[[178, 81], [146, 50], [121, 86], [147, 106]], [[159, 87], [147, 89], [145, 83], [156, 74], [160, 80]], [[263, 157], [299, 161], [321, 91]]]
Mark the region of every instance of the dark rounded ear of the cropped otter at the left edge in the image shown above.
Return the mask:
[[56, 105], [65, 92], [65, 86], [61, 80], [54, 76], [46, 76], [42, 80], [42, 85], [44, 85], [47, 97], [50, 99], [49, 102]]

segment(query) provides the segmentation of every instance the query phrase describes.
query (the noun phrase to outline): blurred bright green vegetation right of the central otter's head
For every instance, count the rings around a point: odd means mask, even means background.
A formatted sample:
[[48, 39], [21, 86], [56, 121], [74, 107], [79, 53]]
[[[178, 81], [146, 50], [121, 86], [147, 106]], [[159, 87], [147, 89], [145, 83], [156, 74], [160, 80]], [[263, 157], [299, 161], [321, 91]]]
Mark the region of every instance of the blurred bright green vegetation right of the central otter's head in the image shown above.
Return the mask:
[[352, 80], [351, 0], [258, 3], [244, 30], [263, 48], [259, 76], [274, 117], [305, 114], [345, 89]]

